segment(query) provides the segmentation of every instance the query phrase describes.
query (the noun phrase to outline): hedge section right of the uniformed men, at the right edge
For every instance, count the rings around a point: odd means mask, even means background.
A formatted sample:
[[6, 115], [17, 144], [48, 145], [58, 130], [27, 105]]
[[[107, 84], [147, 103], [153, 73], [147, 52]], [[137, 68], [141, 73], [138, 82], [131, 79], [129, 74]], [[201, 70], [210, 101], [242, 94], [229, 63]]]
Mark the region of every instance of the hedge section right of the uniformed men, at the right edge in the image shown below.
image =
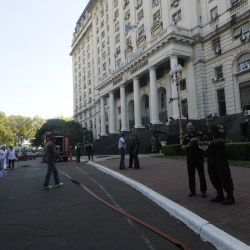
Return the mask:
[[235, 142], [226, 144], [229, 160], [250, 160], [250, 142]]

